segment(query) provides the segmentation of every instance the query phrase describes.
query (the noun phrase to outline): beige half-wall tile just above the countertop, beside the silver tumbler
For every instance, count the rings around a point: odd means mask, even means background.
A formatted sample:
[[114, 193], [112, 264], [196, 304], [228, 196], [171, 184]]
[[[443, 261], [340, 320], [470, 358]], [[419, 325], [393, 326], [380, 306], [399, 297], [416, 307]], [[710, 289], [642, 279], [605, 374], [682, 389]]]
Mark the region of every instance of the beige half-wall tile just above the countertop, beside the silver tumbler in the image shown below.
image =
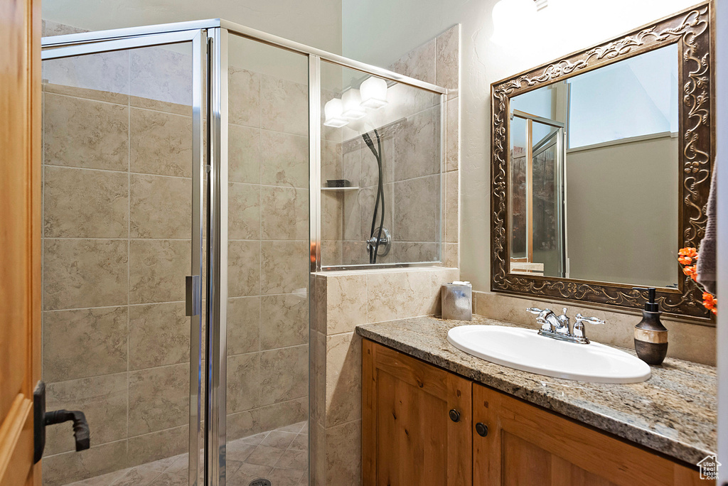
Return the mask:
[[440, 287], [459, 277], [456, 268], [368, 274], [368, 321], [381, 322], [440, 312]]

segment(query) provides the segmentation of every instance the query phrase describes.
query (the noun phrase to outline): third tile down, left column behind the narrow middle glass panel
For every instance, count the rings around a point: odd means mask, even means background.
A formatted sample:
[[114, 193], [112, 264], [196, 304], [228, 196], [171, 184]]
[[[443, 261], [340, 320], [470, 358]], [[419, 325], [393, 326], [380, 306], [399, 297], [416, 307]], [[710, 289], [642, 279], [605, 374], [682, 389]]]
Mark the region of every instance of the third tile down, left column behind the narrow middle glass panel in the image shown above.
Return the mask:
[[229, 183], [228, 219], [229, 239], [260, 238], [261, 186]]

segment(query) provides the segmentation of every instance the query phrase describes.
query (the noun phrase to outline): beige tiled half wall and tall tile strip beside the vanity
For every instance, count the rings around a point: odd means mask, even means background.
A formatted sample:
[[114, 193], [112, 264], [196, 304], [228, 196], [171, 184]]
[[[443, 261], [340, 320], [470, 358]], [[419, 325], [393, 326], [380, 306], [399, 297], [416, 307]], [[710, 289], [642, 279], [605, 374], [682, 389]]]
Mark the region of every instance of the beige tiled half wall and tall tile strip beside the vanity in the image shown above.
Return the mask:
[[[459, 25], [455, 25], [392, 65], [394, 71], [437, 81], [451, 90], [443, 223], [443, 266], [451, 268], [331, 271], [315, 276], [316, 327], [310, 331], [315, 343], [310, 426], [315, 486], [361, 483], [361, 338], [355, 327], [439, 314], [441, 285], [459, 279], [459, 44]], [[415, 201], [420, 196], [412, 195]]]

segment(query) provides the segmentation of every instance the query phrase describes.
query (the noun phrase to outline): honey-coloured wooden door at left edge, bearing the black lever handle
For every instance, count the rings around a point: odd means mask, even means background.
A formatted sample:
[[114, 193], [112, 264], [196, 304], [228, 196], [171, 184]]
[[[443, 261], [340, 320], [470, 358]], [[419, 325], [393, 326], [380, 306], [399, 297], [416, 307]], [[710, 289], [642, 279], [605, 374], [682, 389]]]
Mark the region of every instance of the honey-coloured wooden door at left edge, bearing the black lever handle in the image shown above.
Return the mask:
[[0, 484], [40, 485], [41, 2], [0, 0]]

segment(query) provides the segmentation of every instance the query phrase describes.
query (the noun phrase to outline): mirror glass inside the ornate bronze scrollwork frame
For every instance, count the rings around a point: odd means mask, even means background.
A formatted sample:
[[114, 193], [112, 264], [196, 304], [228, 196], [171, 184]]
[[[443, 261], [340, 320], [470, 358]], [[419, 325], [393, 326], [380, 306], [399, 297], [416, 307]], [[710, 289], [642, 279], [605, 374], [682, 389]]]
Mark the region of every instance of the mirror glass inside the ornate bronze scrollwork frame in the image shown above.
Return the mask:
[[678, 52], [510, 99], [510, 271], [678, 283]]

